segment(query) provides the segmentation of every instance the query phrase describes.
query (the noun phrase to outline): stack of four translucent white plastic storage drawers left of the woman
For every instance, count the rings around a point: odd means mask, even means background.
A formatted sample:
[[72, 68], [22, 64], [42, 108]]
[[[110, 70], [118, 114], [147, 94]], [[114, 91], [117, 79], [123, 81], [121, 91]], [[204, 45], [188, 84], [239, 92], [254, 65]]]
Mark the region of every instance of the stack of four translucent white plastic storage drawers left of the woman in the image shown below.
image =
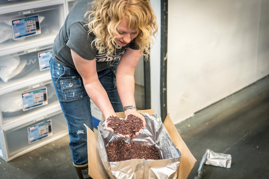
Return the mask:
[[66, 0], [0, 1], [0, 157], [9, 161], [67, 134], [50, 76]]

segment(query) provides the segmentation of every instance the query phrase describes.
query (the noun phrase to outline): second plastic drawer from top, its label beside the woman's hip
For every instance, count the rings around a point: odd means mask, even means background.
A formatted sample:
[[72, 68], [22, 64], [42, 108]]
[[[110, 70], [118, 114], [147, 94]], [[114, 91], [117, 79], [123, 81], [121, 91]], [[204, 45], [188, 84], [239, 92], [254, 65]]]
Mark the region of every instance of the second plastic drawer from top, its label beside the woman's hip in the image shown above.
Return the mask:
[[46, 58], [50, 59], [52, 47], [53, 44], [50, 44], [0, 56], [0, 95], [16, 90], [18, 87], [27, 87], [43, 80], [49, 80], [51, 78], [49, 64], [42, 65], [41, 62], [39, 67], [38, 54], [40, 56], [45, 54]]

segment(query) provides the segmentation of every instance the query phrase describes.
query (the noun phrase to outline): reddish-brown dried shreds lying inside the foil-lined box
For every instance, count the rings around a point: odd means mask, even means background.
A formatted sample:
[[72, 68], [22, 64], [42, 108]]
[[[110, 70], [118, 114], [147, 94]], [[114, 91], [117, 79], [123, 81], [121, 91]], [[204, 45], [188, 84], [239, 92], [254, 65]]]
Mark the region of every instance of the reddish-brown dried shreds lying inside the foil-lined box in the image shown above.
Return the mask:
[[130, 144], [124, 140], [115, 140], [106, 146], [106, 154], [108, 162], [119, 162], [130, 160], [133, 158], [159, 160], [160, 156], [155, 146], [139, 145], [131, 142]]

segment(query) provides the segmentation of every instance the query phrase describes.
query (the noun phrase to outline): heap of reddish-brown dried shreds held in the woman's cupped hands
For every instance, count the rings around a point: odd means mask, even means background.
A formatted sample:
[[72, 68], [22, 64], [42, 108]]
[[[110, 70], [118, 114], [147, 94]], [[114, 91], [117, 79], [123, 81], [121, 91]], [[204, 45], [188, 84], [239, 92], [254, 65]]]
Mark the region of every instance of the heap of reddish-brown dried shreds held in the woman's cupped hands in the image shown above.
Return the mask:
[[136, 132], [143, 128], [143, 121], [141, 118], [129, 114], [126, 120], [121, 120], [117, 116], [109, 116], [107, 118], [107, 126], [114, 130], [114, 133], [122, 135], [130, 135], [130, 138], [134, 138]]

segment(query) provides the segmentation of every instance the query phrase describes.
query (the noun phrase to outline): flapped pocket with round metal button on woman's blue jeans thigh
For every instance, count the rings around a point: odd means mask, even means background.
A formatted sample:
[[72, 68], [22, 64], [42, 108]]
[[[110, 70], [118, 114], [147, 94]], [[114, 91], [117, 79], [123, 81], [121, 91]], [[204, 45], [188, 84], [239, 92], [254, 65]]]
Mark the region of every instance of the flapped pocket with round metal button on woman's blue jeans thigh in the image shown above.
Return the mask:
[[64, 100], [76, 100], [83, 97], [80, 78], [60, 80]]

